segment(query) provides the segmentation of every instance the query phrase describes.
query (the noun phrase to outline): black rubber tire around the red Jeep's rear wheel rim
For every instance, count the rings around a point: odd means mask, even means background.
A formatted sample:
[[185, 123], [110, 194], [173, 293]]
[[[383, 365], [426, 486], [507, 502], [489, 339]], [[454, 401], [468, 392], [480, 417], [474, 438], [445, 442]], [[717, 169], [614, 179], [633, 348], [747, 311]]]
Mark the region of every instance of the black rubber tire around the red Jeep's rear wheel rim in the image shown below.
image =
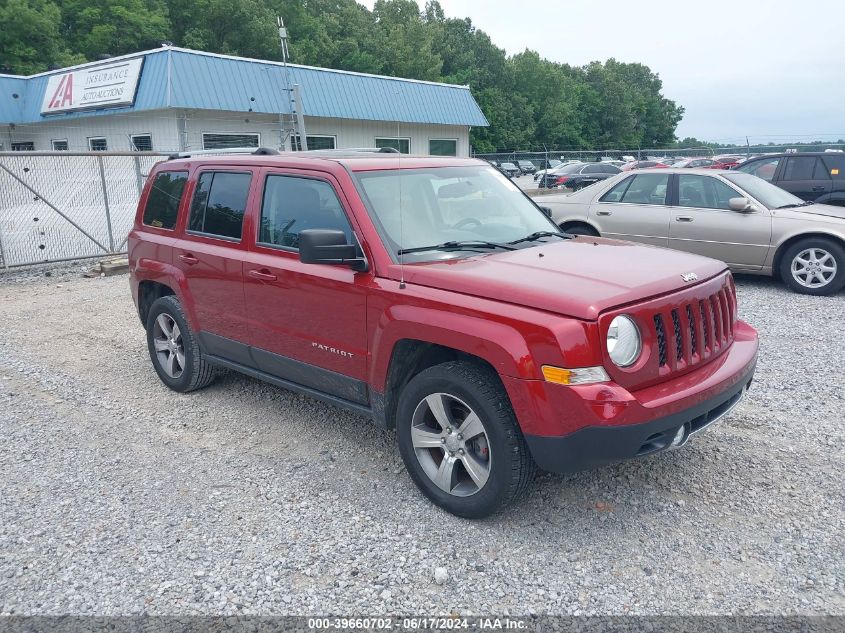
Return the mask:
[[[172, 319], [179, 328], [184, 367], [181, 367], [181, 371], [176, 376], [168, 374], [166, 363], [155, 348], [157, 320], [162, 315]], [[158, 326], [158, 331], [160, 327]], [[185, 318], [182, 304], [172, 295], [161, 297], [150, 306], [150, 312], [147, 315], [147, 349], [158, 377], [173, 391], [186, 393], [202, 389], [214, 380], [215, 367], [203, 357], [197, 337]], [[167, 352], [164, 353], [167, 354]]]

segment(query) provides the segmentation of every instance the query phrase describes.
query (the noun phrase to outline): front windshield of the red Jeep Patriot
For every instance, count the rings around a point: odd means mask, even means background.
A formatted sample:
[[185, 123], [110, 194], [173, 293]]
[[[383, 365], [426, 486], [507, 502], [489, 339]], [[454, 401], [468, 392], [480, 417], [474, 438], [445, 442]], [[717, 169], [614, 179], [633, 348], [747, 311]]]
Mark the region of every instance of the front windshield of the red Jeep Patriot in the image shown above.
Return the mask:
[[[484, 165], [392, 169], [355, 174], [385, 245], [397, 252], [445, 242], [507, 243], [537, 231], [559, 231], [522, 191]], [[526, 242], [520, 247], [534, 246]], [[453, 259], [476, 251], [426, 251], [406, 262]]]

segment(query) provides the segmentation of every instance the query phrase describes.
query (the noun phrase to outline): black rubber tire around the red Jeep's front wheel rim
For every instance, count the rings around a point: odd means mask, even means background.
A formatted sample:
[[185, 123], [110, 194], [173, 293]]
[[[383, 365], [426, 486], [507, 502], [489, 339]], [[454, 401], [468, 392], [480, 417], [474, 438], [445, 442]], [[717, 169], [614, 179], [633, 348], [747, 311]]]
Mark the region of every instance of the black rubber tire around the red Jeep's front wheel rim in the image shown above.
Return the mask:
[[[438, 487], [417, 456], [411, 437], [414, 414], [423, 406], [426, 397], [433, 394], [447, 394], [462, 401], [483, 425], [488, 443], [489, 474], [486, 483], [469, 496], [450, 494]], [[519, 498], [536, 473], [536, 465], [507, 393], [496, 373], [482, 365], [452, 361], [430, 367], [412, 378], [399, 396], [396, 435], [399, 451], [414, 483], [432, 502], [457, 516], [479, 519], [493, 514]], [[437, 449], [430, 450], [437, 452]], [[446, 459], [446, 449], [442, 450], [442, 458]], [[456, 466], [455, 472], [456, 479], [463, 474], [469, 483], [469, 471], [462, 465]]]

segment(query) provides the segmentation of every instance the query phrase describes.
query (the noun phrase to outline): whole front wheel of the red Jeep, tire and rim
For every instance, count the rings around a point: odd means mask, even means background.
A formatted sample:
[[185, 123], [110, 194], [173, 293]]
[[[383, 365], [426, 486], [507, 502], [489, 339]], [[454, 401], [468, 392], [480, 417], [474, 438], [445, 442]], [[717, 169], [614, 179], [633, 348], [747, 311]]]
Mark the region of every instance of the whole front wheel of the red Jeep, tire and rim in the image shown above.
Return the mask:
[[499, 377], [473, 363], [436, 365], [411, 379], [399, 398], [396, 434], [414, 483], [458, 516], [496, 512], [534, 477]]

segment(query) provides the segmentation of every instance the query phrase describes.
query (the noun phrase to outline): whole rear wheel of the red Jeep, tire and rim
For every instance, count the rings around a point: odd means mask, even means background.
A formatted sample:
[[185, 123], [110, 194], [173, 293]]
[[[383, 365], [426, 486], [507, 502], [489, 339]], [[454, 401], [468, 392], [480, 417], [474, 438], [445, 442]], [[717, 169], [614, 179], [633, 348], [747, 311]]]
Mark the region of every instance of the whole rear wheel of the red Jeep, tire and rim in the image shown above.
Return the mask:
[[182, 304], [172, 295], [150, 306], [147, 347], [158, 377], [174, 391], [201, 389], [214, 379], [214, 366], [203, 358]]

